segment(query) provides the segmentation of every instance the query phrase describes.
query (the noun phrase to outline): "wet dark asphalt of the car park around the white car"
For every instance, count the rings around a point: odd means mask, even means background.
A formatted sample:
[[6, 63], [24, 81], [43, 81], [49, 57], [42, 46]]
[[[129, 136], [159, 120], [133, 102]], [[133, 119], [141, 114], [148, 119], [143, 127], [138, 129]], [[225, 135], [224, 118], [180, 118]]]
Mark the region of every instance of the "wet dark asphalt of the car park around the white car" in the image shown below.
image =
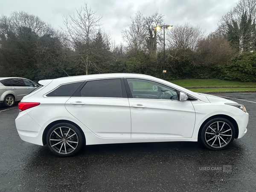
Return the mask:
[[90, 145], [61, 158], [22, 141], [17, 105], [1, 106], [0, 191], [255, 192], [256, 93], [213, 95], [235, 98], [249, 113], [247, 134], [223, 151], [196, 142], [132, 143]]

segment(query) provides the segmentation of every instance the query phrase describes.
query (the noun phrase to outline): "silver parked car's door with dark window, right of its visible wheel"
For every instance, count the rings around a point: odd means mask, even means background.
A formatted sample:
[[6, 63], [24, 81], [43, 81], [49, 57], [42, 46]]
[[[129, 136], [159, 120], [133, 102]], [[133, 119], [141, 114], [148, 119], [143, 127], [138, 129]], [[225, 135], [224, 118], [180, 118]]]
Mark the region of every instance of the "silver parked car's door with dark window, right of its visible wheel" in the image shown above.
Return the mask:
[[16, 95], [16, 100], [21, 100], [24, 96], [27, 95], [27, 89], [22, 79], [12, 78], [10, 79], [12, 91]]

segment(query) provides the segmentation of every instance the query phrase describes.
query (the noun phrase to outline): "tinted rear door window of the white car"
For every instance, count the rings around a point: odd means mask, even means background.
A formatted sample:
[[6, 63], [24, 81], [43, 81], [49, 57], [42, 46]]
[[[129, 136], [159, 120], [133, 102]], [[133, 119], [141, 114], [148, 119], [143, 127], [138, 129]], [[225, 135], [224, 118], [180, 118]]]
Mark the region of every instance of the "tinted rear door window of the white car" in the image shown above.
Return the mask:
[[87, 81], [80, 94], [81, 97], [123, 97], [121, 79]]

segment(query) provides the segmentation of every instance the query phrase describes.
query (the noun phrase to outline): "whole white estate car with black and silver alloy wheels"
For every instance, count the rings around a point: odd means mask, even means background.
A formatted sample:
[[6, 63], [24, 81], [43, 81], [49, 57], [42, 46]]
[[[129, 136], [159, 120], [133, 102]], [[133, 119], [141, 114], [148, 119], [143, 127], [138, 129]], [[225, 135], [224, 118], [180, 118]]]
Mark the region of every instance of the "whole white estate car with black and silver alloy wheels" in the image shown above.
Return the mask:
[[212, 150], [247, 132], [243, 105], [128, 73], [39, 81], [19, 103], [20, 138], [58, 156], [86, 145], [198, 141]]

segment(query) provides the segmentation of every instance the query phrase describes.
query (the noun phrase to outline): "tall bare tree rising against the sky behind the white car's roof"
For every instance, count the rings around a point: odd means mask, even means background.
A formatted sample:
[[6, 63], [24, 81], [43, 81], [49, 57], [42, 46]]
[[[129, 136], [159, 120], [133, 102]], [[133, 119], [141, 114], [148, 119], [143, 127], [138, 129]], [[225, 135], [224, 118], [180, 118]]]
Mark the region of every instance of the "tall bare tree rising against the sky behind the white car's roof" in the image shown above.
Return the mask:
[[93, 39], [97, 31], [100, 29], [100, 19], [96, 12], [84, 4], [80, 10], [76, 10], [76, 15], [68, 15], [64, 18], [68, 40], [70, 47], [75, 51], [76, 67], [85, 70], [86, 75], [92, 67], [99, 70], [96, 62], [93, 60], [95, 51], [92, 47]]

